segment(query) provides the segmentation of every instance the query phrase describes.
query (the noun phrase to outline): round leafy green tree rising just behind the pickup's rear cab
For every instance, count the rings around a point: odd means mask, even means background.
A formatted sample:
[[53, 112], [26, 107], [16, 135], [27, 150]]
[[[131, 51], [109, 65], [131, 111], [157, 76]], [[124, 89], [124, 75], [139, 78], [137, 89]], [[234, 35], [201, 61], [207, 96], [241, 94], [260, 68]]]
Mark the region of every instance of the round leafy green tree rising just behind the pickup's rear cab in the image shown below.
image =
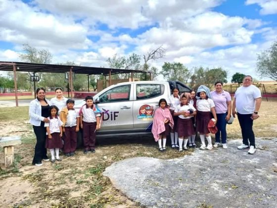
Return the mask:
[[160, 74], [162, 74], [167, 80], [178, 80], [184, 83], [186, 83], [189, 78], [189, 70], [180, 62], [165, 62]]

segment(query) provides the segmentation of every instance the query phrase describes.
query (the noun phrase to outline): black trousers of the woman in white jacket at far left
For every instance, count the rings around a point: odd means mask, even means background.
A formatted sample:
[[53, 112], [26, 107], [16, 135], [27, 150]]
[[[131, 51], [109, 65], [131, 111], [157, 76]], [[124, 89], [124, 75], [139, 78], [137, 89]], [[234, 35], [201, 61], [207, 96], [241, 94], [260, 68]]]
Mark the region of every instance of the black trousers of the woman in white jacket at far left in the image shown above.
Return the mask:
[[37, 137], [37, 144], [35, 147], [35, 155], [32, 163], [36, 164], [41, 162], [43, 158], [47, 158], [47, 151], [45, 148], [46, 128], [44, 126], [33, 126], [33, 129]]

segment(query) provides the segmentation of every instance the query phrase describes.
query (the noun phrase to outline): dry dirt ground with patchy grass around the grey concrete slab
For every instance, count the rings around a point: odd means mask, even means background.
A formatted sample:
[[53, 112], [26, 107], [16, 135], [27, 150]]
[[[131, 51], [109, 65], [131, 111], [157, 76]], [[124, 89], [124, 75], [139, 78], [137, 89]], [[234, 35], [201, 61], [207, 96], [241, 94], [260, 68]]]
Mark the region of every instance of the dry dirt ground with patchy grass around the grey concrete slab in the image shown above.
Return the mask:
[[[263, 101], [260, 118], [254, 123], [256, 137], [277, 137], [277, 101]], [[28, 107], [0, 108], [0, 137], [19, 135], [22, 145], [15, 147], [15, 163], [4, 168], [0, 150], [0, 207], [55, 208], [136, 208], [102, 175], [105, 168], [125, 158], [147, 156], [173, 159], [190, 154], [168, 147], [166, 153], [157, 150], [151, 136], [135, 138], [105, 138], [98, 141], [95, 154], [84, 155], [77, 150], [72, 157], [62, 156], [61, 162], [43, 162], [33, 166], [35, 135], [28, 124]], [[241, 138], [238, 121], [228, 125], [228, 138]], [[199, 145], [199, 138], [197, 138]]]

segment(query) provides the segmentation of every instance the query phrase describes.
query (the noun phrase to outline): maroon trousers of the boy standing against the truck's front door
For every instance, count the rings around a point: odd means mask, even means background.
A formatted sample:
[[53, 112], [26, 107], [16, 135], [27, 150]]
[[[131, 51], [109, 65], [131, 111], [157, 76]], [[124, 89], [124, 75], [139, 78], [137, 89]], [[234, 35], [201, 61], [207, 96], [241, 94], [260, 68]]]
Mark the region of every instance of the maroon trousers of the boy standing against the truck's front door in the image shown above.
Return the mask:
[[96, 122], [87, 123], [83, 121], [83, 140], [84, 140], [84, 149], [92, 150], [95, 149], [96, 141]]

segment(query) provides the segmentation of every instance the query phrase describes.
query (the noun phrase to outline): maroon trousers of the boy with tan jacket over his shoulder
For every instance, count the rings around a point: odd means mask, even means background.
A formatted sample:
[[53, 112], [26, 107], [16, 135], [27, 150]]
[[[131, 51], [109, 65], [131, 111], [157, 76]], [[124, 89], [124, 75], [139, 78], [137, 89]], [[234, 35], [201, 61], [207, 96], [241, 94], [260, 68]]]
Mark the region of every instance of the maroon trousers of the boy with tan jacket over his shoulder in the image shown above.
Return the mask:
[[72, 127], [64, 127], [64, 135], [63, 135], [63, 152], [64, 153], [72, 153], [76, 150], [77, 147], [77, 132], [76, 126]]

